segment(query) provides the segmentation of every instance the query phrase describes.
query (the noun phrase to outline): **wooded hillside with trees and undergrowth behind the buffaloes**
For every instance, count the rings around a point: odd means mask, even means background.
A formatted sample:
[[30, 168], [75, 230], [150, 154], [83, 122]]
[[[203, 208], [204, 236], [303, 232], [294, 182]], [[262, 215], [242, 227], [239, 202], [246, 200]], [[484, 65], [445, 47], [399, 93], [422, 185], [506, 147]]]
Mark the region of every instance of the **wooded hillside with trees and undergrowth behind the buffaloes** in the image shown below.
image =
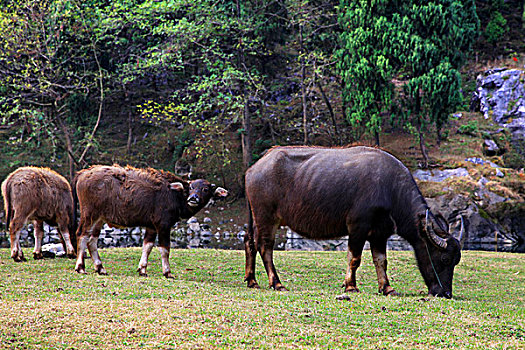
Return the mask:
[[[0, 178], [22, 165], [70, 177], [91, 164], [131, 164], [191, 171], [235, 200], [246, 167], [273, 145], [360, 143], [379, 144], [411, 170], [465, 166], [477, 181], [492, 170], [465, 159], [487, 158], [483, 140], [494, 133], [507, 151], [489, 160], [506, 176], [490, 180], [498, 194], [522, 203], [523, 155], [508, 133], [468, 112], [477, 74], [525, 63], [522, 1], [433, 1], [414, 12], [341, 4], [7, 2], [0, 11]], [[362, 28], [387, 30], [381, 23], [397, 15], [443, 20], [448, 6], [464, 26], [445, 21], [442, 28], [463, 33], [461, 47], [450, 33], [405, 28], [406, 21], [387, 28], [392, 42], [347, 40]], [[353, 20], [359, 11], [369, 13], [359, 17], [365, 22]], [[408, 32], [436, 52], [395, 51]], [[425, 70], [427, 54], [448, 63]], [[427, 185], [425, 195], [440, 193]], [[448, 186], [469, 192], [468, 184]]]

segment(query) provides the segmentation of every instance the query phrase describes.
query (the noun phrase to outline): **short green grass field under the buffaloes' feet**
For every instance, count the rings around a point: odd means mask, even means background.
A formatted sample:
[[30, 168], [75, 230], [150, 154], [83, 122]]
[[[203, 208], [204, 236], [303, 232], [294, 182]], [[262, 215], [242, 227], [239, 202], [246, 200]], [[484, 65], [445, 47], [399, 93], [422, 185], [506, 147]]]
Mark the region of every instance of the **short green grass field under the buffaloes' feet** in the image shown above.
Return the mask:
[[[26, 255], [30, 255], [30, 250]], [[108, 276], [67, 259], [14, 263], [0, 249], [1, 349], [525, 349], [525, 255], [463, 252], [454, 299], [428, 298], [410, 252], [389, 252], [401, 293], [376, 294], [370, 253], [361, 293], [339, 301], [342, 252], [276, 252], [289, 292], [245, 287], [244, 252], [172, 250], [175, 280], [135, 272], [140, 249], [106, 249]], [[267, 277], [258, 258], [258, 281]]]

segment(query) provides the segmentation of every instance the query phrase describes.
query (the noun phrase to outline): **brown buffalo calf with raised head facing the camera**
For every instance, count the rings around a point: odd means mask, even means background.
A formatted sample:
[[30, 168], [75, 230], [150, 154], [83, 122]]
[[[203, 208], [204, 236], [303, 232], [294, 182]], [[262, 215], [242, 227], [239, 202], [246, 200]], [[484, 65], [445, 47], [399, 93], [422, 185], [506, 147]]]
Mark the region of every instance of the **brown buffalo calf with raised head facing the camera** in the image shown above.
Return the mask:
[[146, 228], [138, 267], [141, 276], [147, 276], [148, 257], [158, 236], [162, 271], [167, 278], [173, 278], [169, 263], [171, 227], [180, 218], [195, 215], [211, 198], [228, 195], [228, 191], [213, 188], [206, 180], [186, 182], [169, 172], [118, 165], [95, 165], [81, 170], [75, 176], [73, 187], [80, 204], [75, 270], [85, 273], [87, 248], [95, 270], [101, 275], [105, 275], [106, 270], [98, 254], [97, 241], [104, 223]]

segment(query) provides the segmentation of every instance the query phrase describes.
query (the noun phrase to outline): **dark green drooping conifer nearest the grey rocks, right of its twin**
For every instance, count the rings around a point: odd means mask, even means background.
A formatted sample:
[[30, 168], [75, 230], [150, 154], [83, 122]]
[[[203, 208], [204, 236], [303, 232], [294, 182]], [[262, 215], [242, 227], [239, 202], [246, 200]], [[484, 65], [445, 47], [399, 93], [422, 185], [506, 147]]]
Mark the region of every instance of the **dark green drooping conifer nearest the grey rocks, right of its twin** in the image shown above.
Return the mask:
[[403, 85], [409, 125], [417, 130], [424, 165], [428, 163], [424, 132], [440, 130], [461, 103], [458, 72], [477, 36], [479, 20], [473, 0], [404, 2], [396, 17], [404, 33], [401, 61], [409, 77]]

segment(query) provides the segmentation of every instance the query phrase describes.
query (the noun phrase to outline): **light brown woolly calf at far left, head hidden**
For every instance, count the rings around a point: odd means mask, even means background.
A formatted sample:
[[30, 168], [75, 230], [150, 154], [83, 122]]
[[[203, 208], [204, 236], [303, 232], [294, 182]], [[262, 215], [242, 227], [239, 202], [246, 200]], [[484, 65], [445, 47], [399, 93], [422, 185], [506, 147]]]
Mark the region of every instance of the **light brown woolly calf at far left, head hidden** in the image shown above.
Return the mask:
[[11, 258], [25, 261], [20, 246], [20, 230], [33, 220], [35, 249], [33, 257], [42, 259], [44, 222], [58, 226], [68, 257], [75, 257], [70, 234], [75, 232], [74, 206], [67, 180], [48, 168], [18, 168], [2, 182], [2, 196], [11, 239]]

